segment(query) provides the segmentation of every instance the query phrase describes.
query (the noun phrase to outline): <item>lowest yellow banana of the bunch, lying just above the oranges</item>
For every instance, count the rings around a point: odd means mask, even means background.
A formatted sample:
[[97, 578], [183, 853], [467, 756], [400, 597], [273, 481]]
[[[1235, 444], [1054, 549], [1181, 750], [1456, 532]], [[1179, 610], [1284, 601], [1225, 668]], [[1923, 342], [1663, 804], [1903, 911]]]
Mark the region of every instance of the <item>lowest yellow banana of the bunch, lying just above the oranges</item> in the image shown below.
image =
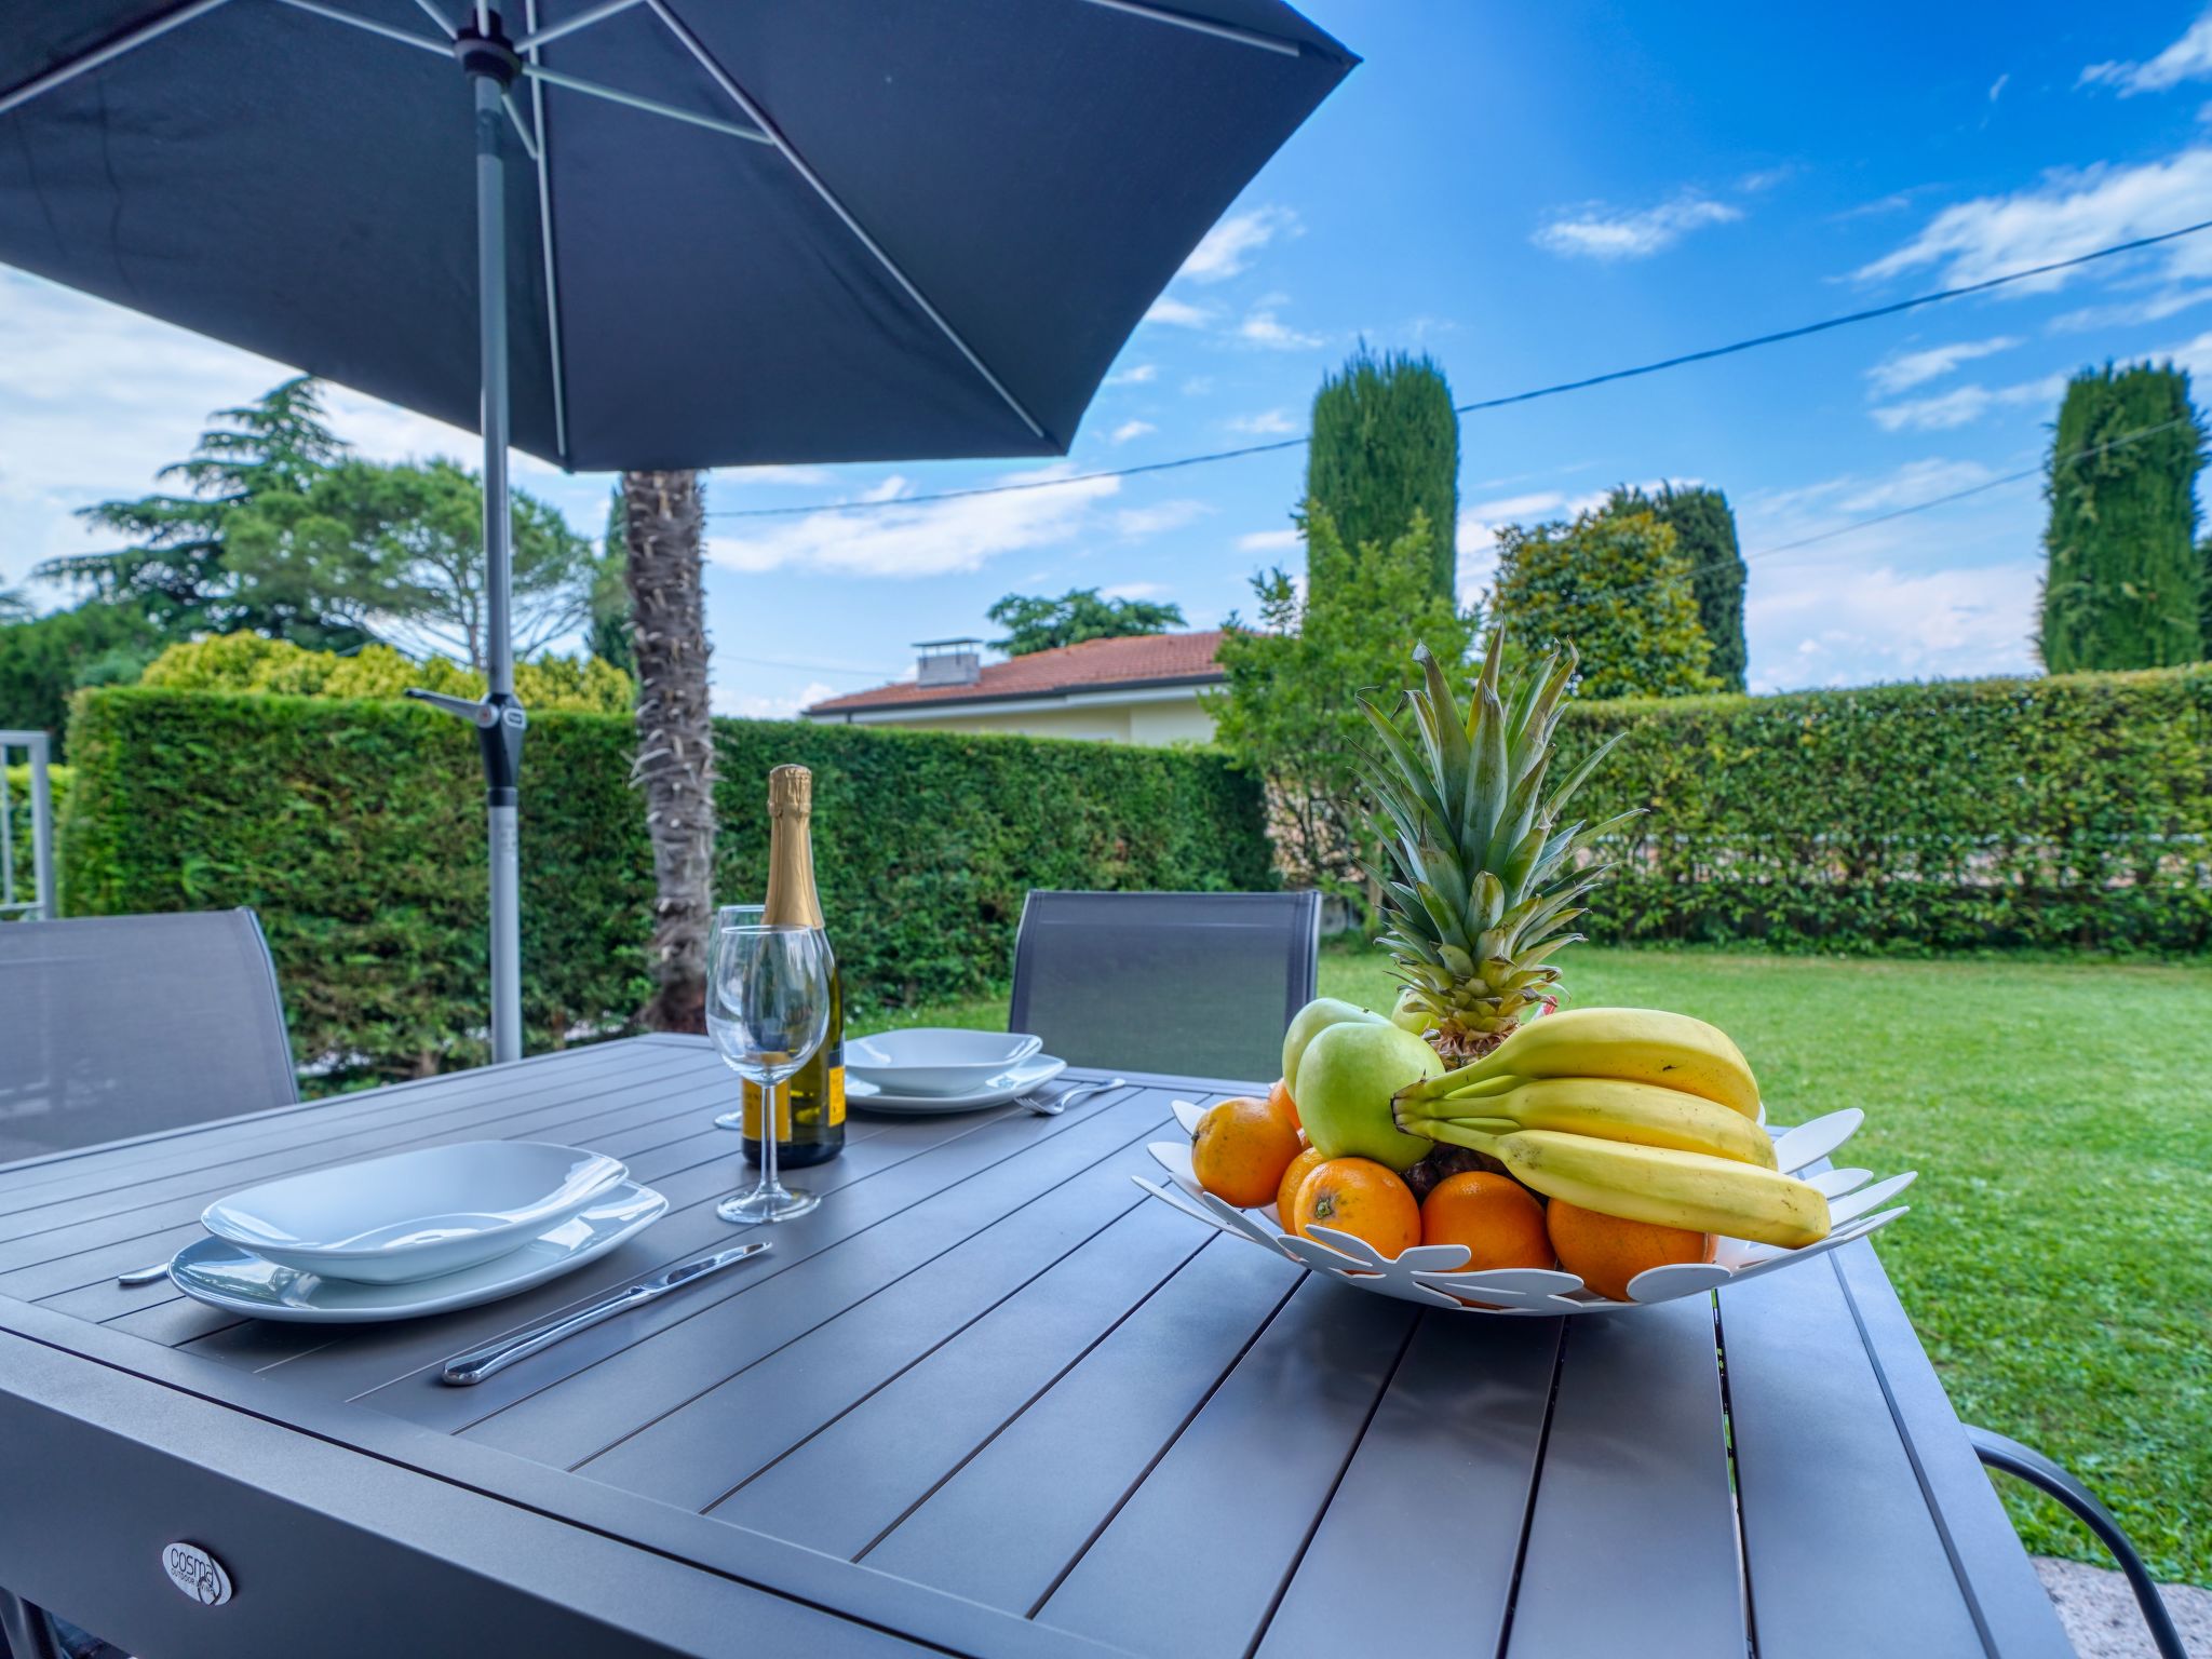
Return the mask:
[[1820, 1243], [1829, 1228], [1820, 1188], [1725, 1157], [1548, 1128], [1486, 1135], [1460, 1124], [1438, 1124], [1436, 1139], [1489, 1152], [1517, 1181], [1548, 1199], [1628, 1221], [1725, 1232], [1730, 1239], [1790, 1250]]

